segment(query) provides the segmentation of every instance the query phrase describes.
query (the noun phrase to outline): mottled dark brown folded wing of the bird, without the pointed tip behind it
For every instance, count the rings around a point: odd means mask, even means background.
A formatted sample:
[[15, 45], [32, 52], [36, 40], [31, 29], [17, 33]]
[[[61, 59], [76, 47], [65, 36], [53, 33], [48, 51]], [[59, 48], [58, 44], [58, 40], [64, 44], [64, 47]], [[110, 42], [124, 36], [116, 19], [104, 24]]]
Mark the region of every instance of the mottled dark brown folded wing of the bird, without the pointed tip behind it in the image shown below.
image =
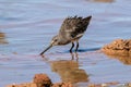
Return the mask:
[[87, 27], [86, 17], [67, 17], [60, 28], [60, 35], [64, 38], [75, 39], [82, 37]]

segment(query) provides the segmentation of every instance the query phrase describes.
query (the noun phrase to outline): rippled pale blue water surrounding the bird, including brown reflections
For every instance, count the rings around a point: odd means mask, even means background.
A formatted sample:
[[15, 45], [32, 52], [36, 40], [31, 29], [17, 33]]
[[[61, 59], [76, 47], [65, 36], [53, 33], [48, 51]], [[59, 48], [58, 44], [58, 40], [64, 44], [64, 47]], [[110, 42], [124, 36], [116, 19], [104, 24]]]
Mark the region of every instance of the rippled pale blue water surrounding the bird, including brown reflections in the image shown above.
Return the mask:
[[[88, 83], [131, 82], [127, 64], [96, 50], [114, 39], [131, 39], [130, 0], [0, 0], [0, 86], [31, 82], [46, 73], [52, 82], [70, 80], [78, 87]], [[79, 61], [71, 61], [71, 45], [48, 46], [67, 16], [88, 16], [92, 22], [80, 40]]]

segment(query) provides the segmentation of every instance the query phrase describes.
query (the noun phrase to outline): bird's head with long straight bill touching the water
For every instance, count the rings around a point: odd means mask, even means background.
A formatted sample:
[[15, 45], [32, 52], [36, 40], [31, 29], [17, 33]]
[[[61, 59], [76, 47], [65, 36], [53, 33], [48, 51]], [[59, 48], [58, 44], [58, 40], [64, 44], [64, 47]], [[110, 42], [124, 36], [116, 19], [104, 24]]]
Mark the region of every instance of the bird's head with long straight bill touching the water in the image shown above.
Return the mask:
[[55, 36], [50, 42], [50, 45], [40, 53], [40, 55], [43, 55], [47, 50], [49, 50], [52, 46], [57, 46], [59, 45], [59, 37], [58, 35]]

